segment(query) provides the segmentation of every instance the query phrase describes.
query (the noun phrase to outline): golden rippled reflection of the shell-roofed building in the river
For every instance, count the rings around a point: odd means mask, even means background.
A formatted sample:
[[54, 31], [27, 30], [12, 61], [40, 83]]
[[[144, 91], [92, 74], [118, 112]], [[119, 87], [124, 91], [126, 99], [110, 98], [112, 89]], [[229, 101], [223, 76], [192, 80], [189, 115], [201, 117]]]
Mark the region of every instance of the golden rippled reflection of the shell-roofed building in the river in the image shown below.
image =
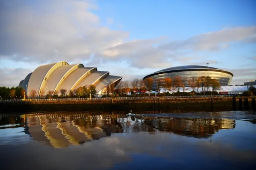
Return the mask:
[[100, 127], [88, 128], [76, 125], [74, 121], [68, 121], [68, 117], [64, 117], [64, 119], [63, 117], [49, 118], [42, 115], [29, 116], [27, 120], [28, 131], [32, 138], [44, 144], [52, 145], [54, 148], [78, 145], [93, 138], [106, 136], [106, 133]]

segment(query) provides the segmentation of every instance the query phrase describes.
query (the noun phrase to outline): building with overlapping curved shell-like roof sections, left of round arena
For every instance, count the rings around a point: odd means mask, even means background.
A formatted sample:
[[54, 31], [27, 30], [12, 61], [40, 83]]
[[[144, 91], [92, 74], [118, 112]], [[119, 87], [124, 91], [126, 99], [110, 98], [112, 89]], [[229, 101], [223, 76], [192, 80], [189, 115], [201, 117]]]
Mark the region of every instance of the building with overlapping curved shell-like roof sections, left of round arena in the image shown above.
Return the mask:
[[98, 71], [96, 67], [84, 67], [82, 64], [69, 65], [66, 61], [51, 63], [37, 67], [20, 81], [19, 87], [27, 92], [36, 90], [37, 95], [44, 90], [60, 91], [60, 89], [77, 89], [80, 86], [95, 85], [97, 93], [102, 88], [114, 84], [115, 86], [123, 77], [109, 75], [108, 71]]

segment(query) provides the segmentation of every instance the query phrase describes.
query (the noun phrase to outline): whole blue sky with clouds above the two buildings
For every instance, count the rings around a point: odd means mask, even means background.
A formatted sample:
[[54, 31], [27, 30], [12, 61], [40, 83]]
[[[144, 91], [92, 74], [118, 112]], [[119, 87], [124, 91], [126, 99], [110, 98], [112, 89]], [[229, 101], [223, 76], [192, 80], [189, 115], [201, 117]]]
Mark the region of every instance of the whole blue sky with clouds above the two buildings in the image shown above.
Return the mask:
[[123, 80], [209, 63], [243, 84], [256, 75], [255, 8], [255, 0], [1, 0], [0, 86], [58, 61]]

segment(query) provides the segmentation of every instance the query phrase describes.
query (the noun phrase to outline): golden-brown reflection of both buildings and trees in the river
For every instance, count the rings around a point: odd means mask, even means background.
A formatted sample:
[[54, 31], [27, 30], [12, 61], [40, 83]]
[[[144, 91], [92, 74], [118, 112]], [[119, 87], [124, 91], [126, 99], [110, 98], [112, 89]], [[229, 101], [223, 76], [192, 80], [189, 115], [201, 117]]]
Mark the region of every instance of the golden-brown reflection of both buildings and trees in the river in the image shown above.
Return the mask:
[[194, 138], [209, 138], [222, 129], [235, 128], [233, 119], [125, 117], [125, 115], [47, 114], [2, 115], [0, 129], [24, 127], [33, 140], [63, 148], [80, 145], [114, 133], [174, 133]]

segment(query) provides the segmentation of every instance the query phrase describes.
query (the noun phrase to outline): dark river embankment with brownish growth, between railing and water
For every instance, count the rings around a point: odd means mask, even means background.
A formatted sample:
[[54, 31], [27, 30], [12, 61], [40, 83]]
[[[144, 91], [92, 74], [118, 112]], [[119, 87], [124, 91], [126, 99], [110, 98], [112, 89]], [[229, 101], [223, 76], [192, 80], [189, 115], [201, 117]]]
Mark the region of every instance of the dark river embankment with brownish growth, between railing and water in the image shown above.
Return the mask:
[[[238, 109], [239, 98], [236, 97]], [[252, 108], [252, 98], [248, 97]], [[255, 97], [254, 97], [255, 98]], [[34, 112], [34, 111], [231, 111], [232, 97], [217, 98], [176, 98], [176, 99], [109, 99], [109, 100], [77, 100], [77, 101], [21, 101], [0, 103], [2, 112]]]

